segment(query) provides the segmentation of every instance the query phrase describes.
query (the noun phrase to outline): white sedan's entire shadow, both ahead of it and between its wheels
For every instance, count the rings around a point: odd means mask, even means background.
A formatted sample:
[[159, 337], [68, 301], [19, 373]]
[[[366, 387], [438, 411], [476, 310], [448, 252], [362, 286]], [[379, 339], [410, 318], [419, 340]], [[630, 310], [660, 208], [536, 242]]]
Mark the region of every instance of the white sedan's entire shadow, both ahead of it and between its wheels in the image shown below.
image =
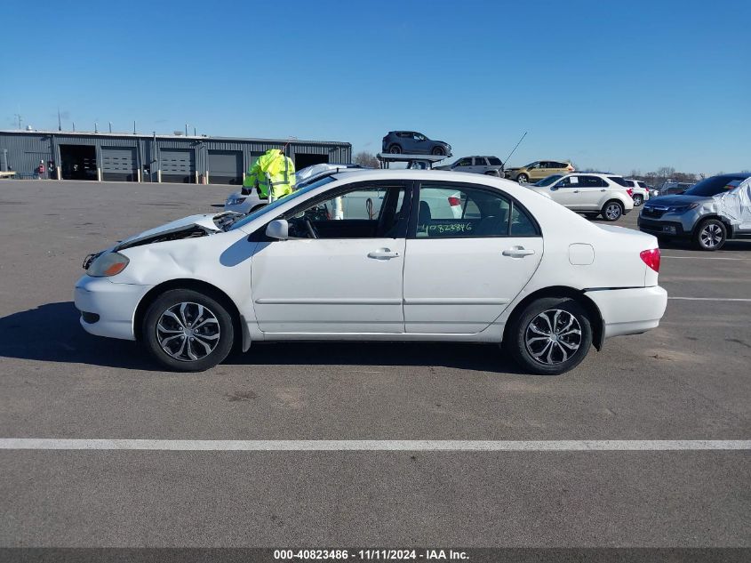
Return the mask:
[[[0, 318], [0, 358], [163, 371], [136, 342], [87, 334], [72, 302], [47, 303]], [[259, 342], [232, 366], [444, 366], [522, 374], [495, 345], [453, 342]]]

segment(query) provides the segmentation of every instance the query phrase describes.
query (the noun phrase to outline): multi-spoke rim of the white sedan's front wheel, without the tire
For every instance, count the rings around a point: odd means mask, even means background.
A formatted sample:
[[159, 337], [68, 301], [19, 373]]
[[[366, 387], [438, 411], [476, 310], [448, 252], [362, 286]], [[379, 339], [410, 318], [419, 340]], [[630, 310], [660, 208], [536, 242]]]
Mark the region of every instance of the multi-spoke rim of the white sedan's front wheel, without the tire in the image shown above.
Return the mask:
[[196, 361], [217, 347], [219, 320], [204, 305], [177, 303], [165, 310], [156, 323], [156, 340], [172, 358], [183, 362]]

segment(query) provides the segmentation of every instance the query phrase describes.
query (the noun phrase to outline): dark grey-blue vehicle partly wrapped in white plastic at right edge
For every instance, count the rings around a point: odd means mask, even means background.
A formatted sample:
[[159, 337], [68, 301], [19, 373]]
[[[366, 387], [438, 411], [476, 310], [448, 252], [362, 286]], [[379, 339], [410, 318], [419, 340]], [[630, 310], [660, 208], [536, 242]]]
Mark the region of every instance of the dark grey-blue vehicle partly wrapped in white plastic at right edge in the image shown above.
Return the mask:
[[729, 238], [751, 238], [748, 178], [751, 173], [712, 176], [683, 194], [650, 199], [639, 213], [639, 229], [661, 241], [691, 239], [700, 250], [718, 250]]

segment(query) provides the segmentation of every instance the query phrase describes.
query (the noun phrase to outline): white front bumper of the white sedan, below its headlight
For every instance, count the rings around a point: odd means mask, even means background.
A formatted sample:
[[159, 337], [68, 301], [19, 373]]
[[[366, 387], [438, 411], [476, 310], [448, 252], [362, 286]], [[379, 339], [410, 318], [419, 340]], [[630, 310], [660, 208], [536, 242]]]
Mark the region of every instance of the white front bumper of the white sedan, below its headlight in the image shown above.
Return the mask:
[[[136, 309], [151, 287], [116, 284], [108, 277], [81, 277], [73, 293], [76, 309], [82, 313], [81, 326], [87, 333], [97, 336], [135, 340]], [[93, 322], [84, 320], [83, 313]]]

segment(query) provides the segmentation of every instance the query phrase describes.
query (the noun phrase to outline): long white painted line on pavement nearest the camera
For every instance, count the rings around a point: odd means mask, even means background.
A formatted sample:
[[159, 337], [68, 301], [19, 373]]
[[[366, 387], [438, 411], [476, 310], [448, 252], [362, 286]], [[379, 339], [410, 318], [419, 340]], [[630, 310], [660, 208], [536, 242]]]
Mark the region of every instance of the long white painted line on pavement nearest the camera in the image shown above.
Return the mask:
[[151, 440], [0, 438], [6, 450], [619, 452], [751, 450], [751, 440]]

